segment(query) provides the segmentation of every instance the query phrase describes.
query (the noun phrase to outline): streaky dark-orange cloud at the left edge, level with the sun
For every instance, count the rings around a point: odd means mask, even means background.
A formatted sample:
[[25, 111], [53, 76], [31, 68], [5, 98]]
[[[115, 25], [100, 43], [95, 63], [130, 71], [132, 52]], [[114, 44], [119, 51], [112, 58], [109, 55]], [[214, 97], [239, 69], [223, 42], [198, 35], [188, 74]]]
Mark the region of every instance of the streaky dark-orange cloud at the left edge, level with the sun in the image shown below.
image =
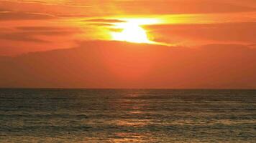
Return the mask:
[[1, 28], [0, 55], [17, 55], [29, 51], [65, 49], [76, 45], [80, 29], [62, 26], [17, 26]]

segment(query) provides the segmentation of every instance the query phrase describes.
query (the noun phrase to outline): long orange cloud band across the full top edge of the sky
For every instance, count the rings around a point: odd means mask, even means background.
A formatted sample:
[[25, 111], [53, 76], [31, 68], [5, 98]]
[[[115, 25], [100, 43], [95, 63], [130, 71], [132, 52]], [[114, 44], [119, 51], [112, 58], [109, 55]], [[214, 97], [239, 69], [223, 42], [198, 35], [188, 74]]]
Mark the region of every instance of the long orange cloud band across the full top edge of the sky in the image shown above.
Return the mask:
[[152, 14], [209, 14], [256, 11], [255, 2], [211, 0], [143, 0], [143, 1], [0, 1], [10, 11], [63, 15], [152, 15]]

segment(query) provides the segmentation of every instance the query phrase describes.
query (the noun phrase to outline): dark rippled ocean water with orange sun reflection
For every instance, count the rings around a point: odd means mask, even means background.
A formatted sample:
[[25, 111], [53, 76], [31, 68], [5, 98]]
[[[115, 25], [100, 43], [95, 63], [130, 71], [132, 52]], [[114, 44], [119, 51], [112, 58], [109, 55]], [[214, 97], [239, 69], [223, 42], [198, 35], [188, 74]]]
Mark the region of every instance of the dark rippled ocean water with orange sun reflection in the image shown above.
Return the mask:
[[256, 90], [0, 89], [0, 142], [256, 142]]

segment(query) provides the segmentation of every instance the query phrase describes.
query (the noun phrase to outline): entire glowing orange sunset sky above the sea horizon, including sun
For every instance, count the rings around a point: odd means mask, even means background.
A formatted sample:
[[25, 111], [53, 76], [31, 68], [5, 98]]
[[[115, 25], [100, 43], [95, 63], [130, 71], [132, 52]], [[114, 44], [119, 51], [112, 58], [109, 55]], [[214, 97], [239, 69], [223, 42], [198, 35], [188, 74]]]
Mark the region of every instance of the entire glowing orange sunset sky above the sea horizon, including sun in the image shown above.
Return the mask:
[[256, 88], [255, 0], [2, 0], [0, 87]]

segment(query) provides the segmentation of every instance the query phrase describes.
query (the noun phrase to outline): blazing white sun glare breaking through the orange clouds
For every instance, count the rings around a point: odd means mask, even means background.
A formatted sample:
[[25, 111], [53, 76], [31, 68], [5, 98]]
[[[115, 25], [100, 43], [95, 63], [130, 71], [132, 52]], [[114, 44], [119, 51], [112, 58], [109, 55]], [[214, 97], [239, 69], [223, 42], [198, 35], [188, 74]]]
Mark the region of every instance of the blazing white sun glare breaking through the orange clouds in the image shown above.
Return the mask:
[[128, 19], [127, 22], [116, 24], [114, 28], [122, 29], [120, 32], [112, 32], [112, 39], [117, 41], [128, 41], [133, 43], [154, 43], [147, 36], [147, 31], [141, 25], [150, 24], [143, 19]]

